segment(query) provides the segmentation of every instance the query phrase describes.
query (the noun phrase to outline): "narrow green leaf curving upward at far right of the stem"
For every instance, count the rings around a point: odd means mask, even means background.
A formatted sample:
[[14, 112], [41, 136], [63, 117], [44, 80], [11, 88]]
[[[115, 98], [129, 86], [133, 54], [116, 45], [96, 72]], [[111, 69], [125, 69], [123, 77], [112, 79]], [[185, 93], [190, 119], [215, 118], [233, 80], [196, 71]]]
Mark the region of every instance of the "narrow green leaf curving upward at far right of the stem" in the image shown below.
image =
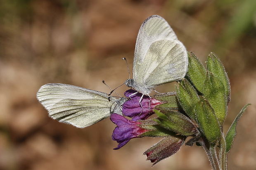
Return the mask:
[[225, 141], [226, 141], [226, 153], [228, 153], [232, 147], [232, 144], [234, 142], [235, 139], [235, 135], [236, 133], [236, 127], [237, 127], [237, 121], [240, 119], [240, 117], [242, 116], [242, 114], [244, 113], [245, 109], [251, 105], [251, 103], [245, 105], [243, 107], [243, 109], [240, 111], [240, 113], [237, 115], [237, 117], [235, 118], [235, 120], [233, 121], [232, 125], [230, 126], [228, 133], [225, 137]]

